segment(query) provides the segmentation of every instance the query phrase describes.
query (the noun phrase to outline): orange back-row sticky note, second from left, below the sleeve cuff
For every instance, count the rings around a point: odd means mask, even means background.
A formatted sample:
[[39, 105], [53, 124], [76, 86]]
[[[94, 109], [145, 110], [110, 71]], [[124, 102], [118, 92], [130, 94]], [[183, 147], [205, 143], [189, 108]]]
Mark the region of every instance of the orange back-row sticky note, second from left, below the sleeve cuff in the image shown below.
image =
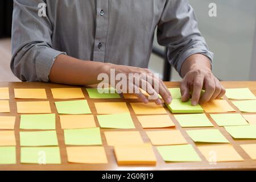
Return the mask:
[[15, 98], [47, 99], [46, 89], [14, 89]]

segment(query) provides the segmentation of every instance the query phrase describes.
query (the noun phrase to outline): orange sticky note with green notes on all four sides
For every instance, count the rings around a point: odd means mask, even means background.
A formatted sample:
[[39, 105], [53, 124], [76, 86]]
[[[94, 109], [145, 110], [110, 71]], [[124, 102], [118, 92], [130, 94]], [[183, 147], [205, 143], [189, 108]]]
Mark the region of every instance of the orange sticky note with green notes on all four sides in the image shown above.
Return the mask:
[[60, 115], [61, 129], [96, 127], [93, 115]]

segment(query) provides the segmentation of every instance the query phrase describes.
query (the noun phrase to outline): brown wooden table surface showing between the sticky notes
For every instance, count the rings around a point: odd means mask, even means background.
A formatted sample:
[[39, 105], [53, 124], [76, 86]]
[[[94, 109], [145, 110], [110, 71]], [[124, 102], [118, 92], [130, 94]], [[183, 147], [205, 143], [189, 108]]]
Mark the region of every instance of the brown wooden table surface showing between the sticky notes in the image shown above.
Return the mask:
[[[256, 82], [222, 82], [222, 84], [225, 86], [225, 88], [250, 88], [250, 90], [256, 94]], [[175, 88], [179, 86], [179, 82], [166, 82], [166, 85], [168, 88]], [[162, 157], [159, 155], [158, 151], [156, 151], [156, 148], [154, 147], [155, 155], [158, 160], [156, 166], [118, 166], [117, 162], [114, 157], [113, 153], [113, 147], [110, 147], [106, 144], [106, 139], [104, 136], [104, 131], [118, 131], [117, 129], [101, 129], [101, 137], [103, 146], [106, 150], [106, 155], [108, 157], [108, 164], [72, 164], [68, 163], [67, 161], [67, 152], [64, 144], [64, 136], [63, 136], [63, 130], [60, 127], [60, 121], [59, 117], [56, 111], [56, 107], [54, 105], [54, 101], [60, 101], [60, 100], [53, 100], [51, 90], [50, 88], [67, 88], [72, 86], [67, 85], [59, 85], [59, 84], [51, 84], [51, 83], [41, 83], [41, 82], [0, 82], [0, 87], [9, 87], [10, 88], [10, 113], [1, 113], [0, 115], [15, 115], [16, 116], [16, 123], [15, 123], [15, 136], [16, 136], [16, 160], [17, 163], [15, 165], [0, 165], [0, 170], [204, 170], [204, 169], [256, 169], [256, 160], [250, 159], [250, 157], [242, 150], [240, 147], [240, 144], [246, 144], [246, 143], [256, 143], [256, 140], [234, 140], [223, 127], [219, 127], [216, 125], [216, 123], [209, 117], [209, 114], [207, 113], [208, 118], [213, 123], [214, 127], [221, 131], [222, 134], [225, 135], [225, 137], [230, 141], [230, 143], [234, 146], [236, 151], [242, 156], [244, 159], [243, 162], [225, 162], [225, 163], [217, 163], [217, 164], [209, 164], [207, 160], [205, 160], [204, 156], [201, 155], [200, 151], [195, 146], [195, 143], [192, 141], [192, 139], [187, 135], [185, 130], [186, 128], [181, 128], [180, 125], [177, 123], [174, 116], [170, 113], [170, 111], [166, 108], [168, 111], [168, 114], [170, 115], [171, 119], [174, 121], [176, 125], [176, 129], [180, 130], [185, 139], [187, 139], [188, 143], [191, 143], [194, 147], [197, 153], [200, 155], [200, 158], [202, 159], [202, 162], [193, 162], [193, 163], [166, 163], [163, 161]], [[61, 164], [46, 164], [46, 165], [39, 165], [39, 164], [20, 164], [20, 145], [19, 145], [19, 131], [24, 131], [19, 129], [19, 123], [20, 123], [20, 114], [17, 114], [16, 111], [16, 101], [20, 101], [21, 99], [15, 99], [14, 98], [14, 88], [46, 88], [47, 98], [51, 102], [51, 109], [52, 113], [56, 113], [56, 131], [57, 131], [57, 137], [59, 140], [59, 147], [60, 147], [60, 154], [61, 154]], [[92, 114], [94, 114], [94, 118], [97, 121], [96, 118], [96, 109], [94, 107], [94, 102], [109, 102], [109, 101], [123, 101], [127, 102], [127, 106], [129, 107], [131, 117], [133, 118], [133, 121], [135, 123], [136, 129], [138, 130], [144, 142], [150, 142], [150, 140], [147, 138], [147, 135], [145, 133], [145, 130], [141, 127], [141, 125], [138, 122], [138, 119], [133, 111], [131, 109], [131, 106], [128, 104], [129, 102], [136, 102], [137, 100], [125, 100], [123, 98], [121, 99], [90, 99], [85, 88], [82, 88], [82, 91], [84, 92], [85, 99], [88, 100], [90, 109], [92, 110]], [[224, 97], [226, 100], [226, 97]], [[25, 100], [22, 100], [25, 101]], [[26, 100], [26, 101], [35, 101], [35, 100]], [[231, 101], [228, 101], [230, 105], [232, 105], [235, 109], [236, 107], [231, 103]], [[237, 110], [237, 109], [236, 109]], [[237, 110], [237, 113], [241, 113]], [[99, 127], [98, 122], [96, 122], [97, 127]], [[199, 129], [199, 128], [195, 128]], [[202, 128], [201, 128], [202, 129]], [[147, 130], [155, 130], [155, 129], [147, 129]], [[158, 129], [158, 130], [167, 130], [167, 129]], [[124, 130], [122, 130], [124, 131]], [[256, 132], [256, 131], [255, 131]]]

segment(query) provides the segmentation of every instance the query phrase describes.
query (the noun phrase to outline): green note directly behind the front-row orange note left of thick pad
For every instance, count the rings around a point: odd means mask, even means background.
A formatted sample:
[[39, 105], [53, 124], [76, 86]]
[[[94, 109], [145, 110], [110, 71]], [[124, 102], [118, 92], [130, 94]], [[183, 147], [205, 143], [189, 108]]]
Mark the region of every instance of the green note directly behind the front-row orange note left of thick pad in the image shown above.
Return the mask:
[[90, 129], [64, 130], [65, 144], [69, 145], [101, 145], [101, 133], [99, 127]]

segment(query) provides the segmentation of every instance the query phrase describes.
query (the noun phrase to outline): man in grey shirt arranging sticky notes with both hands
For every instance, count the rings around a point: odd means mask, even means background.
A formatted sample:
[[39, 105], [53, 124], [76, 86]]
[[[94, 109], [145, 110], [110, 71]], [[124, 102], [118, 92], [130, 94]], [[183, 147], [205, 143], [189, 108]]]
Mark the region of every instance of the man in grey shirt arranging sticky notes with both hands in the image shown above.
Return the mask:
[[[192, 105], [221, 98], [225, 89], [211, 72], [213, 54], [187, 0], [15, 0], [11, 69], [22, 81], [71, 85], [97, 84], [97, 76], [110, 75], [110, 69], [148, 75], [156, 27], [159, 44], [168, 47], [168, 59], [183, 77], [182, 100], [189, 91]], [[151, 84], [146, 91], [170, 104], [163, 82], [148, 77], [159, 90]], [[139, 81], [131, 84], [148, 84]], [[148, 102], [141, 92], [137, 96]]]

